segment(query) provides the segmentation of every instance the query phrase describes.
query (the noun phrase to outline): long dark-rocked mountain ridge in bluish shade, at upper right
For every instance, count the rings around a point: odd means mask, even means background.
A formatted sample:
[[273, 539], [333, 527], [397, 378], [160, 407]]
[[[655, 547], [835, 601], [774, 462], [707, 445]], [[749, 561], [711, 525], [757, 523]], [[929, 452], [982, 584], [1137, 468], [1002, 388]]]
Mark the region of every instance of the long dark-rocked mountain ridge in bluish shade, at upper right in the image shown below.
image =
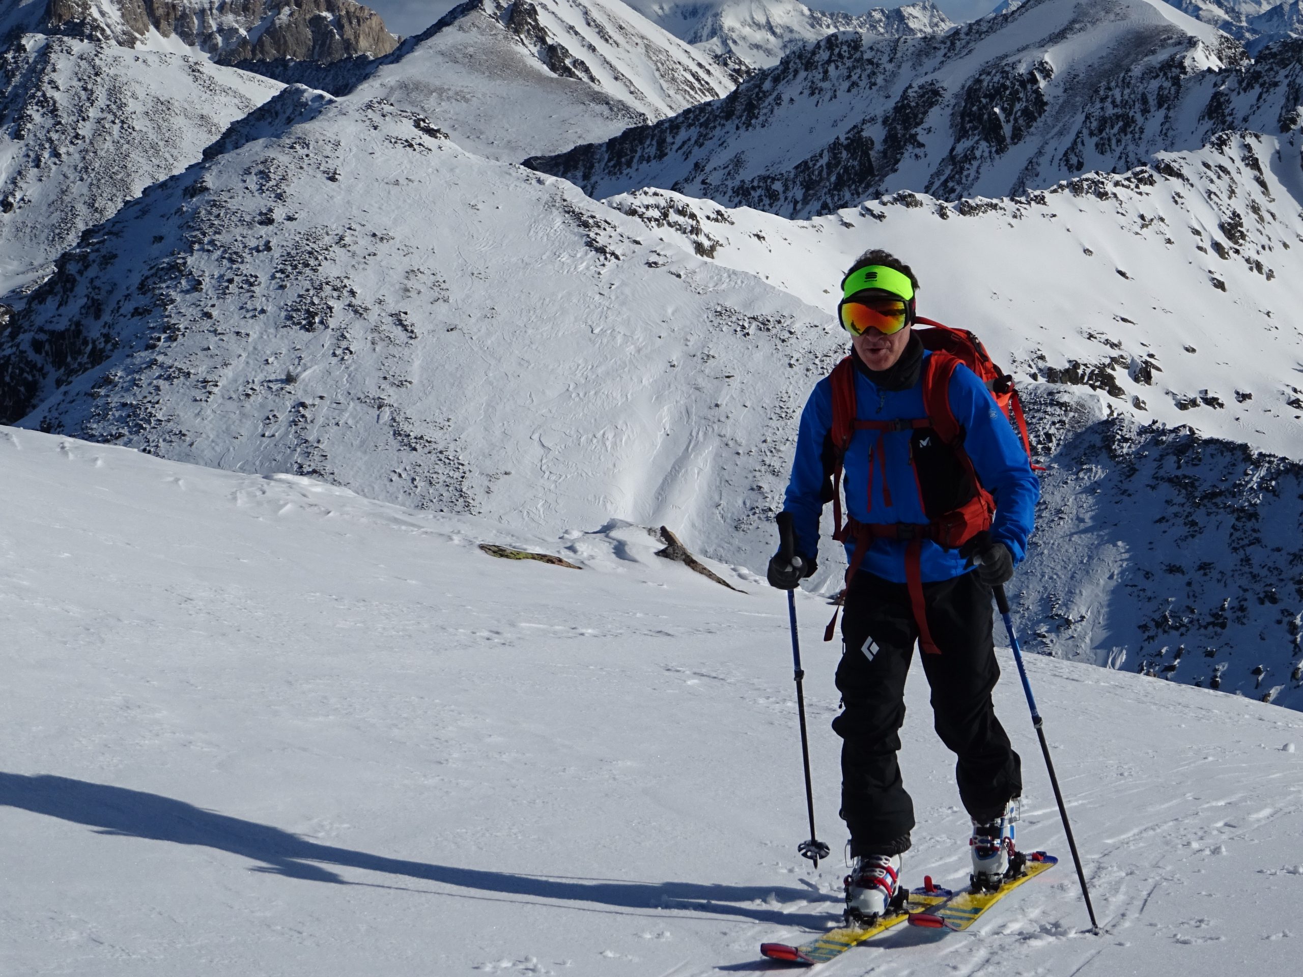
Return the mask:
[[1227, 129], [1289, 132], [1300, 65], [1299, 42], [1248, 60], [1161, 0], [1033, 0], [943, 36], [835, 34], [722, 102], [530, 165], [595, 197], [661, 186], [784, 216], [1016, 194]]

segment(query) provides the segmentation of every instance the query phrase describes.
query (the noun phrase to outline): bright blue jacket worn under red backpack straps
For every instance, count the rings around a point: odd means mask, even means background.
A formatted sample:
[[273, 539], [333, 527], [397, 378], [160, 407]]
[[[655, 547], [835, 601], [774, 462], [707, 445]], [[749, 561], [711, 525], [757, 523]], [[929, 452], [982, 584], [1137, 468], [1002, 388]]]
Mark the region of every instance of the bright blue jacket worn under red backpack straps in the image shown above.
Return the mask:
[[[925, 352], [924, 356], [932, 356]], [[950, 409], [964, 430], [964, 451], [972, 459], [982, 486], [995, 499], [995, 518], [990, 529], [993, 541], [1009, 547], [1015, 561], [1027, 555], [1040, 498], [1040, 483], [1012, 425], [986, 391], [986, 386], [967, 366], [960, 365], [950, 380]], [[861, 370], [855, 371], [856, 416], [861, 421], [891, 421], [926, 417], [923, 408], [923, 380], [903, 391], [881, 389]], [[796, 550], [803, 556], [818, 554], [818, 522], [823, 511], [821, 490], [825, 482], [825, 439], [833, 426], [833, 382], [818, 382], [801, 412], [796, 438], [796, 459], [787, 485], [783, 508], [792, 513]], [[889, 431], [883, 438], [885, 472], [891, 505], [886, 504], [882, 475], [874, 473], [872, 516], [868, 504], [869, 452], [877, 431], [856, 431], [843, 460], [846, 512], [860, 522], [926, 524], [920, 487], [915, 481], [909, 456], [911, 431]], [[904, 551], [907, 543], [896, 539], [874, 539], [860, 567], [885, 580], [906, 582]], [[851, 559], [853, 543], [847, 543]], [[924, 541], [921, 576], [925, 581], [950, 580], [971, 569], [956, 550], [946, 550], [930, 539]]]

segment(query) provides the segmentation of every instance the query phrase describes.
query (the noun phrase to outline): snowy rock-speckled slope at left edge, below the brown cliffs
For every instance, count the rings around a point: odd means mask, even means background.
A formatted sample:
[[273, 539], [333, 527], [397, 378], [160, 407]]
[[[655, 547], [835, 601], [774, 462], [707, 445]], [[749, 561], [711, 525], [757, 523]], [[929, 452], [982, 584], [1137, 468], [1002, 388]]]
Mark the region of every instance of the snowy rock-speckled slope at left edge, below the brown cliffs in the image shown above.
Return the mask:
[[0, 294], [280, 89], [179, 53], [14, 38], [0, 53]]

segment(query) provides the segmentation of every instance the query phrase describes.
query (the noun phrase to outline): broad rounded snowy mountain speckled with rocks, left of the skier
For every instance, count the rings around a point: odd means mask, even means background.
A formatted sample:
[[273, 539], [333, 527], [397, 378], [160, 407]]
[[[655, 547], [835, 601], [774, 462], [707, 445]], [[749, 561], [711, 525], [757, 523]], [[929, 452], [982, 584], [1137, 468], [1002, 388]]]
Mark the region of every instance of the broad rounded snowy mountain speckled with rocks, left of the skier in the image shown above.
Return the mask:
[[437, 119], [319, 98], [287, 91], [60, 258], [4, 340], [5, 417], [504, 524], [770, 546], [831, 322]]

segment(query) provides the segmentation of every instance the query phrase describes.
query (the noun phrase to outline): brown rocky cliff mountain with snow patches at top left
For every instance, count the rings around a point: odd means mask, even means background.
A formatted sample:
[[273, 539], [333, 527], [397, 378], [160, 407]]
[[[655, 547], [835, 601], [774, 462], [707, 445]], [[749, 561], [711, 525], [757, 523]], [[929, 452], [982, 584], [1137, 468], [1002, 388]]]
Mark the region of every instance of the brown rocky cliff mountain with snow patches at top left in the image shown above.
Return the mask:
[[387, 55], [397, 39], [354, 0], [17, 0], [48, 3], [39, 30], [219, 64]]

